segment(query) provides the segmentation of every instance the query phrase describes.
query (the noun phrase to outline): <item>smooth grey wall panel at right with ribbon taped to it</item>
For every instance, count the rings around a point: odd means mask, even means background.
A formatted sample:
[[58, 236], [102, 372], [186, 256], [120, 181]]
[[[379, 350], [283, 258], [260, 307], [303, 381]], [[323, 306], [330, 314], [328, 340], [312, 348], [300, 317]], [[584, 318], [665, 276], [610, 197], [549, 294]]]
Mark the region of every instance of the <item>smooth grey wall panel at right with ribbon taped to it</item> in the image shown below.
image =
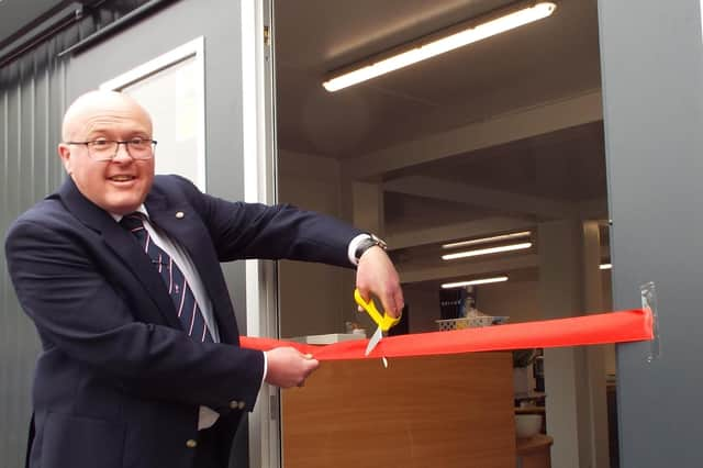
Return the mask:
[[701, 467], [703, 41], [699, 1], [599, 1], [614, 308], [655, 281], [661, 355], [617, 346], [621, 467]]

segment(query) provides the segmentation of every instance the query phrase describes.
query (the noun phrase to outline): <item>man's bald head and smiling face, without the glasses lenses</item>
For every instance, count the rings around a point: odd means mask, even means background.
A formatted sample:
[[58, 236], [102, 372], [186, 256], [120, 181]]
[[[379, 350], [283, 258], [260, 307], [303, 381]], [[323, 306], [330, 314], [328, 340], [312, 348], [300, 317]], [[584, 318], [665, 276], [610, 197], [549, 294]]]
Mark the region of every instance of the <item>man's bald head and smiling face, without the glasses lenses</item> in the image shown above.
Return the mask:
[[[148, 114], [125, 97], [98, 94], [69, 113], [65, 123], [66, 141], [152, 138]], [[86, 145], [62, 143], [58, 153], [78, 190], [108, 212], [135, 211], [152, 188], [154, 158], [133, 159], [125, 145], [120, 145], [114, 159], [107, 161], [91, 158]]]

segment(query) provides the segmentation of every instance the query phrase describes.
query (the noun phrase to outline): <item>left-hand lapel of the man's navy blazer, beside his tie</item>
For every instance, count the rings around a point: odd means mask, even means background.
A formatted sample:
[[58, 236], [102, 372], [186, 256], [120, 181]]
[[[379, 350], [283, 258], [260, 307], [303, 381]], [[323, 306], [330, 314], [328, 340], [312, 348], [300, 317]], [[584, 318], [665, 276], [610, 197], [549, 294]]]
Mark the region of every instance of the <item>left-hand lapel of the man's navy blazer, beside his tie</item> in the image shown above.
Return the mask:
[[144, 254], [131, 233], [118, 224], [104, 210], [86, 199], [74, 181], [68, 180], [62, 186], [59, 196], [68, 210], [83, 224], [102, 234], [107, 246], [126, 265], [144, 287], [146, 294], [154, 302], [155, 308], [142, 307], [136, 310], [137, 317], [147, 323], [167, 323], [180, 328], [181, 324], [174, 310], [174, 303], [164, 288], [164, 281]]

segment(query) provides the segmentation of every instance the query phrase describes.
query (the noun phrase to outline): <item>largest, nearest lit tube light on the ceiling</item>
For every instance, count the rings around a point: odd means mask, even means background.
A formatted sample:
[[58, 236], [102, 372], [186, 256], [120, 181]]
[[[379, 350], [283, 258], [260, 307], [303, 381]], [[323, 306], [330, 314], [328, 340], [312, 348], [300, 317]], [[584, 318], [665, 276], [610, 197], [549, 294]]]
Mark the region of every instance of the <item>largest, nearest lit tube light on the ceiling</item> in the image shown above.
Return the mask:
[[322, 86], [327, 91], [337, 91], [435, 55], [542, 20], [554, 13], [556, 8], [556, 3], [550, 1], [522, 1], [345, 67], [334, 73]]

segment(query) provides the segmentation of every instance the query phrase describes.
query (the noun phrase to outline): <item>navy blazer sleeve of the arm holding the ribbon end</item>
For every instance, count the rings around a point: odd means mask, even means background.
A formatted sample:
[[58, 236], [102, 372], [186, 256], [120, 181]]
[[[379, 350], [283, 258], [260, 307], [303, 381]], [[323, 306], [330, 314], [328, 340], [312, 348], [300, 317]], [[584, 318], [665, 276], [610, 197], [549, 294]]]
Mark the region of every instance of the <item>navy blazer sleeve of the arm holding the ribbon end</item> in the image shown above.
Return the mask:
[[260, 352], [194, 343], [178, 330], [135, 320], [75, 232], [51, 221], [20, 221], [8, 234], [5, 253], [44, 353], [64, 353], [131, 393], [211, 408], [232, 400], [254, 406]]

